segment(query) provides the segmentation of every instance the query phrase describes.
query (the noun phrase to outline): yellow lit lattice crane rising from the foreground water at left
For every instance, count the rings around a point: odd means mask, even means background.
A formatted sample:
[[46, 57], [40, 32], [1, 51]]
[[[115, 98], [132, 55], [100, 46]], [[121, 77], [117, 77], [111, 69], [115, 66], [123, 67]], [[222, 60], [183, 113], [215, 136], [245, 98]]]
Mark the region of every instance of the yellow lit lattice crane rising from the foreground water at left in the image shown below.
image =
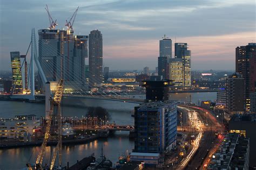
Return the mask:
[[[44, 157], [44, 153], [45, 153], [45, 147], [46, 147], [47, 142], [50, 139], [57, 139], [57, 147], [53, 153], [50, 169], [53, 169], [53, 166], [55, 164], [55, 160], [57, 157], [57, 153], [59, 155], [59, 157], [58, 157], [59, 165], [60, 166], [62, 165], [62, 114], [60, 111], [60, 101], [62, 100], [62, 94], [63, 94], [63, 79], [60, 79], [58, 82], [58, 85], [56, 87], [56, 93], [55, 93], [53, 99], [51, 100], [51, 109], [49, 112], [49, 118], [46, 119], [46, 129], [45, 129], [45, 133], [44, 133], [44, 139], [43, 139], [43, 143], [41, 145], [41, 150], [40, 150], [39, 154], [37, 155], [35, 169], [43, 169], [42, 162], [43, 162], [43, 157]], [[55, 107], [57, 107], [57, 115], [54, 113]], [[50, 134], [53, 116], [56, 116], [57, 122], [58, 122], [57, 134], [56, 133]], [[29, 169], [32, 168], [30, 164], [27, 164], [27, 166]]]

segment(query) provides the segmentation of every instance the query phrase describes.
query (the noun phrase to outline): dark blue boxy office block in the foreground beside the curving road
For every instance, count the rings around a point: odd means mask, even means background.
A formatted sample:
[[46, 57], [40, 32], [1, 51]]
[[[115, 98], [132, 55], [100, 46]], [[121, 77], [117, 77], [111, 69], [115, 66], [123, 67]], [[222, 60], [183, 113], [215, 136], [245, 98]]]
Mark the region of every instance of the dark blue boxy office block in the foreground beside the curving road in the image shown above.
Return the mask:
[[149, 102], [134, 108], [134, 152], [163, 153], [176, 145], [177, 103]]

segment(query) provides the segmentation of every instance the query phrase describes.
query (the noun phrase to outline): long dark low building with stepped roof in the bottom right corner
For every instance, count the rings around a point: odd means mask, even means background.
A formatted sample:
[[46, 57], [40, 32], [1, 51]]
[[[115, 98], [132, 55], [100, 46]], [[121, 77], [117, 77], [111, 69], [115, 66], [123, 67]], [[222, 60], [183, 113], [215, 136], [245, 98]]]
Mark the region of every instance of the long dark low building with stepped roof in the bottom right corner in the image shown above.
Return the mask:
[[212, 156], [207, 169], [249, 169], [250, 139], [237, 133], [228, 133], [219, 150]]

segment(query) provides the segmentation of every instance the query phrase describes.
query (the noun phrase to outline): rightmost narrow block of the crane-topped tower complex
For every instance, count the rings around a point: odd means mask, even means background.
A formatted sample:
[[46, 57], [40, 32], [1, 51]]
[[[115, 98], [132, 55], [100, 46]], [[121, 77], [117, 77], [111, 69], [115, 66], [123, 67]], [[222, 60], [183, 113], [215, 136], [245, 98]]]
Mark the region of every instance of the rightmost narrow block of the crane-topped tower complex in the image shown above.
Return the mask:
[[88, 57], [88, 36], [74, 36], [74, 58], [73, 58], [73, 72], [78, 79], [77, 86], [82, 89], [87, 89], [85, 81], [85, 58]]

